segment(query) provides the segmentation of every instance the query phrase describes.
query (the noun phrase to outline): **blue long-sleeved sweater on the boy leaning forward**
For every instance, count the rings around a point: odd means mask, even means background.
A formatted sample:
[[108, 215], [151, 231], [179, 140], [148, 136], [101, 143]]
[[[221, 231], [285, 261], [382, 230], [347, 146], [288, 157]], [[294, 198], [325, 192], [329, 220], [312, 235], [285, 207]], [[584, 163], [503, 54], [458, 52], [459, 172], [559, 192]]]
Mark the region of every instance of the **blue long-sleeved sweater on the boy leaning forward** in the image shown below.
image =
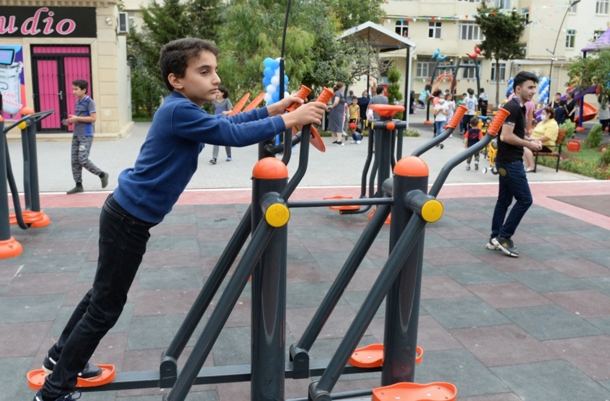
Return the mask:
[[161, 222], [195, 174], [204, 143], [248, 146], [285, 129], [281, 116], [269, 117], [266, 107], [209, 115], [173, 92], [155, 113], [135, 166], [118, 177], [114, 199], [138, 219]]

